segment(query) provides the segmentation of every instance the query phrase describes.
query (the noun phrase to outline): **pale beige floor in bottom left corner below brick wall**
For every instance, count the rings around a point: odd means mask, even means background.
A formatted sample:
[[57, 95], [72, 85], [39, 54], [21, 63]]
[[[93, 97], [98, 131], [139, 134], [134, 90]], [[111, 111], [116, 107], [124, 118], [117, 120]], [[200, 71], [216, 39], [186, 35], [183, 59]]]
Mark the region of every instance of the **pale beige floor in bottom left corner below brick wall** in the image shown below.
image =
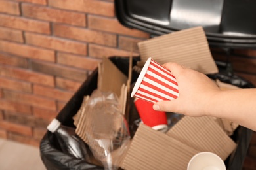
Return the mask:
[[39, 148], [0, 139], [0, 169], [45, 170]]

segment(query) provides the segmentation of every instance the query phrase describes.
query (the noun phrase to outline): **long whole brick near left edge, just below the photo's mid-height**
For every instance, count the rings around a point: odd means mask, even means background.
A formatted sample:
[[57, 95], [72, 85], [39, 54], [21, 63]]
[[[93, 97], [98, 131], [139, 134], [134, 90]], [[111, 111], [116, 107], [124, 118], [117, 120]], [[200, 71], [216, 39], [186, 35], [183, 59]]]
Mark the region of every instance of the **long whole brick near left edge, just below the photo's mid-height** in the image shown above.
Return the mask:
[[26, 94], [26, 93], [16, 93], [10, 91], [3, 91], [5, 99], [24, 103], [26, 105], [32, 105], [34, 107], [41, 107], [49, 110], [56, 110], [56, 104], [53, 99], [47, 99], [45, 97], [40, 97], [37, 95]]

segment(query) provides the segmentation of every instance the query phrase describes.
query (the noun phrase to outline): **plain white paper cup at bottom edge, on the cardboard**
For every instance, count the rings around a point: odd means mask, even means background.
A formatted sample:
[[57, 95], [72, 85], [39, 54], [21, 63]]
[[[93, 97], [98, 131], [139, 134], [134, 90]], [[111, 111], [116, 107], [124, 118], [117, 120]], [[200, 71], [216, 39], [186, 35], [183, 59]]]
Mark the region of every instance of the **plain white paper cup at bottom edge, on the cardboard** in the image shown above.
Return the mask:
[[191, 158], [187, 170], [226, 170], [226, 166], [217, 154], [200, 152]]

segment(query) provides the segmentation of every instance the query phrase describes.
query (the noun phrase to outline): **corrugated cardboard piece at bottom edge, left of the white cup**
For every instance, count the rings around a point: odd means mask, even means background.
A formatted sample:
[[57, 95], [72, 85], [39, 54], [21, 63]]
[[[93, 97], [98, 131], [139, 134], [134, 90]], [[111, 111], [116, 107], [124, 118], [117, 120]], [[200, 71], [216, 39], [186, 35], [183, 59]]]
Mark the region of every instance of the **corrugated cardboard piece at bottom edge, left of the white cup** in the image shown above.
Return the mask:
[[183, 170], [198, 152], [160, 131], [140, 124], [121, 167], [127, 170]]

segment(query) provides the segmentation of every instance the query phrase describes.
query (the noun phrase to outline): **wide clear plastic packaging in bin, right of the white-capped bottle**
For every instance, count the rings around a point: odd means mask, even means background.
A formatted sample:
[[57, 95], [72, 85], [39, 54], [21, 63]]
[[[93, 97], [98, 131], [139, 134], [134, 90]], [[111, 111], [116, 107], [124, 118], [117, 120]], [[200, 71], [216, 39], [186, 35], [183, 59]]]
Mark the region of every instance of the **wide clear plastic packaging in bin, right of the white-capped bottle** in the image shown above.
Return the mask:
[[81, 107], [76, 133], [105, 169], [118, 169], [131, 139], [119, 99], [112, 92], [95, 90]]

